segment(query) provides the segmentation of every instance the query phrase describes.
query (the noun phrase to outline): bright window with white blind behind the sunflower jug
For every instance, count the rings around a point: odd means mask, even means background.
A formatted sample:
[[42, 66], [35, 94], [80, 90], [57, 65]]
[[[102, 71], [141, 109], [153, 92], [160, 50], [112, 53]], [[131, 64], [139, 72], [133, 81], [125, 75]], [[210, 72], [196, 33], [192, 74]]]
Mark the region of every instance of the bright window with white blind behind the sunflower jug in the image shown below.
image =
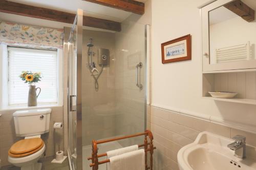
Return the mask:
[[25, 105], [28, 102], [29, 84], [19, 78], [22, 71], [41, 72], [41, 88], [38, 104], [58, 102], [58, 57], [57, 51], [8, 47], [9, 61], [9, 106]]

